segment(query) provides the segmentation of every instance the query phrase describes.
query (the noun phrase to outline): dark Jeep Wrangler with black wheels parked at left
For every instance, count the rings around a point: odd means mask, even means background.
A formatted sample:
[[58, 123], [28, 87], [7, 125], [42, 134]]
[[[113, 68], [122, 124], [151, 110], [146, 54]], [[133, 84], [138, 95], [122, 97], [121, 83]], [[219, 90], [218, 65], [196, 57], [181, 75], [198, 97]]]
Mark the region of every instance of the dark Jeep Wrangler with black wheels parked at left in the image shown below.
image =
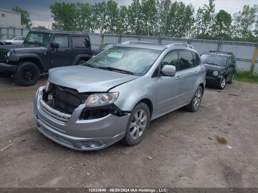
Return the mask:
[[23, 86], [40, 73], [60, 66], [79, 65], [92, 56], [89, 35], [30, 31], [22, 45], [0, 47], [0, 77], [13, 77]]

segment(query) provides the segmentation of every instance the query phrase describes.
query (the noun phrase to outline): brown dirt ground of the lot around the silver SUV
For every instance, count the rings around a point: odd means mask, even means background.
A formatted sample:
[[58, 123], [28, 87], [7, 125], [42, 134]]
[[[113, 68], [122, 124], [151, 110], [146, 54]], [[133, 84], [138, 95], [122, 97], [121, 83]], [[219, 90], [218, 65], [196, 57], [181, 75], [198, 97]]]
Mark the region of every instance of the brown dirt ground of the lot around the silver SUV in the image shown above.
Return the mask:
[[140, 144], [85, 152], [35, 128], [33, 93], [47, 77], [32, 87], [0, 78], [0, 148], [13, 144], [0, 152], [0, 187], [258, 187], [258, 84], [206, 87], [196, 113], [151, 121]]

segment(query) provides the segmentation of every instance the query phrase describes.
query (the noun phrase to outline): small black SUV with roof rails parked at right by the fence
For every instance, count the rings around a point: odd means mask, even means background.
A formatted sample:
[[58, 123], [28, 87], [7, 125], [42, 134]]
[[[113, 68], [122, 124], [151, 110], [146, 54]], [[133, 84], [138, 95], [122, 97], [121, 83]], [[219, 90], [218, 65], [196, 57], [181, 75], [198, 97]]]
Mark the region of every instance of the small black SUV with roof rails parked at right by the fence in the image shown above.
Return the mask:
[[236, 57], [233, 53], [209, 51], [202, 53], [201, 58], [207, 68], [206, 85], [224, 89], [226, 83], [233, 83], [237, 66]]

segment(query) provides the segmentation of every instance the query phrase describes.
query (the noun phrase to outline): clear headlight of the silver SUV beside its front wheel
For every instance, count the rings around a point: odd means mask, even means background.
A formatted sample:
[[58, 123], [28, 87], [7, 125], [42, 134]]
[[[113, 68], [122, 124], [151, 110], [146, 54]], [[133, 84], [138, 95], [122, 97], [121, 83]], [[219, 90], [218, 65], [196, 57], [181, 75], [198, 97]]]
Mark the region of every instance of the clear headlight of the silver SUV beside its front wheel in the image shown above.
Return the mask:
[[85, 101], [86, 106], [108, 105], [116, 101], [119, 92], [99, 93], [90, 95]]

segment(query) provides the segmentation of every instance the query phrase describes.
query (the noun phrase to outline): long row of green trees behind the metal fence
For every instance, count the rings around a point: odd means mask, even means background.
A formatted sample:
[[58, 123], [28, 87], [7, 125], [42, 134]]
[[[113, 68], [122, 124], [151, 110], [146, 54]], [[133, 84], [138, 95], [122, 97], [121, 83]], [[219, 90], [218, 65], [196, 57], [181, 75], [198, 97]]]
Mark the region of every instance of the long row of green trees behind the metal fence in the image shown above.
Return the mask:
[[258, 41], [258, 5], [244, 5], [231, 16], [215, 0], [199, 7], [170, 0], [133, 0], [128, 7], [109, 0], [95, 3], [55, 2], [50, 6], [53, 30], [167, 36], [176, 38]]

